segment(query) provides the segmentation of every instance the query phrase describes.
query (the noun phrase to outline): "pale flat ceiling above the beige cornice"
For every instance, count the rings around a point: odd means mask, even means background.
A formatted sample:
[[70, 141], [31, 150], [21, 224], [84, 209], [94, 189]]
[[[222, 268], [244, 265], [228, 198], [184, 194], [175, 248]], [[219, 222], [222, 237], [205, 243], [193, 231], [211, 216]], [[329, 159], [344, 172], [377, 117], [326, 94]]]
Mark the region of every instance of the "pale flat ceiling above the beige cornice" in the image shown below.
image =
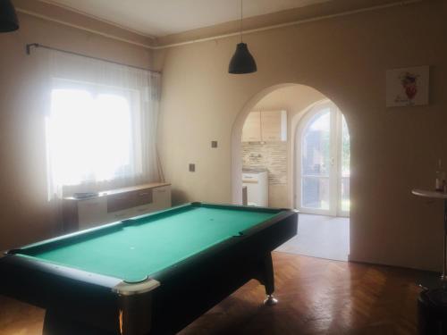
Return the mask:
[[[108, 21], [143, 35], [165, 35], [240, 18], [240, 0], [40, 0]], [[244, 0], [244, 18], [329, 0]]]

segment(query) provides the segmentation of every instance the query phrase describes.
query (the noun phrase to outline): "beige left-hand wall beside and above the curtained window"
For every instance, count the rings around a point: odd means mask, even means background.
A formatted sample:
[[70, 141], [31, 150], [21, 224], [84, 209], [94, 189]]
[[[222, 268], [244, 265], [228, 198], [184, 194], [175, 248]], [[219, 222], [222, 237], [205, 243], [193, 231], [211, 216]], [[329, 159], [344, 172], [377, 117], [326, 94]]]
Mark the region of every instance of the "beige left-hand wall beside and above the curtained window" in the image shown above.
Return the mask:
[[[63, 18], [60, 18], [61, 20]], [[0, 250], [55, 236], [47, 202], [45, 120], [27, 43], [148, 67], [148, 49], [19, 13], [20, 29], [0, 34]]]

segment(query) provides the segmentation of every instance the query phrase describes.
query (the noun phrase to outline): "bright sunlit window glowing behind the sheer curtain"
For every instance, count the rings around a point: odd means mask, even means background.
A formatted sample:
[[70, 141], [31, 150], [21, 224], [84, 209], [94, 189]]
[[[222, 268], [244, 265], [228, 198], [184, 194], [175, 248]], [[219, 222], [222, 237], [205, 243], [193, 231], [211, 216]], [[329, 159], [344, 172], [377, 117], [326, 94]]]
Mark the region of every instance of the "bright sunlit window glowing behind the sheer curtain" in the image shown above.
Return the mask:
[[[51, 180], [62, 187], [142, 173], [138, 91], [54, 80], [46, 121]], [[134, 98], [132, 98], [134, 97]], [[132, 113], [132, 111], [134, 111]], [[51, 197], [51, 195], [50, 195]]]

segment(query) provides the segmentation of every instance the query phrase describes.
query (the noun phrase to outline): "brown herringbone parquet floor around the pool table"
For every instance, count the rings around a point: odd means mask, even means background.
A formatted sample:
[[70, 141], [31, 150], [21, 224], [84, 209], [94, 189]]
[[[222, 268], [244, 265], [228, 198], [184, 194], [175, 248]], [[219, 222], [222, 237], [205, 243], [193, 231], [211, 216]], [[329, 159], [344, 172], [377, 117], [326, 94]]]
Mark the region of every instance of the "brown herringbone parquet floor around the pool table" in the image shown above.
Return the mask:
[[[250, 281], [180, 335], [417, 333], [421, 272], [274, 253], [277, 306]], [[192, 297], [193, 298], [193, 297]], [[0, 334], [41, 333], [44, 311], [0, 296]]]

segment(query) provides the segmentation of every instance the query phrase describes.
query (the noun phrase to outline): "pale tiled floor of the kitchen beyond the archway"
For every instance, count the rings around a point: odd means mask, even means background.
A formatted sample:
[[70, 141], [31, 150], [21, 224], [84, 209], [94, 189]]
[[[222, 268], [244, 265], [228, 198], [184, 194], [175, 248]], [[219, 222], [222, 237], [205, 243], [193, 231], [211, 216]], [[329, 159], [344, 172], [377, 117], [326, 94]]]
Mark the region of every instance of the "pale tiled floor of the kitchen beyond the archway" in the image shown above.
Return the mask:
[[298, 235], [276, 250], [347, 261], [350, 254], [350, 219], [299, 214]]

